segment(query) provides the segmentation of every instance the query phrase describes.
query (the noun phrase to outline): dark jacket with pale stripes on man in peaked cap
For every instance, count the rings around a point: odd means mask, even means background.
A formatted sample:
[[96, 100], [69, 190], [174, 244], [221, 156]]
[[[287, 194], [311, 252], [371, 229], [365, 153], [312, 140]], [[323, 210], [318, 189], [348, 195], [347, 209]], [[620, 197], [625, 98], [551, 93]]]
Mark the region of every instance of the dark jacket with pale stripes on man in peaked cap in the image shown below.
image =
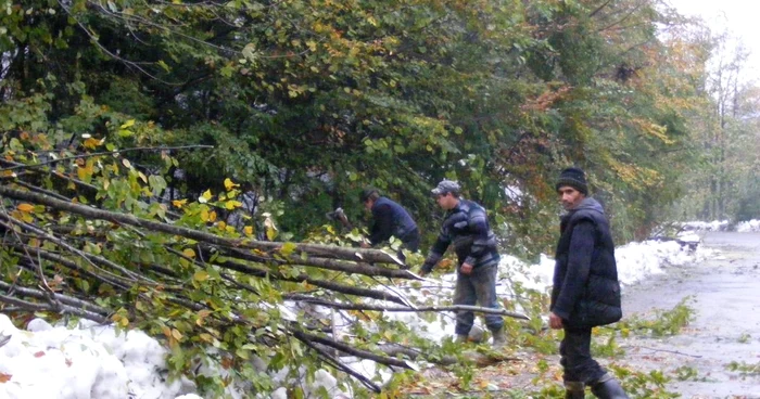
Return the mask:
[[422, 265], [422, 272], [430, 272], [451, 244], [454, 244], [459, 265], [478, 268], [498, 263], [496, 236], [489, 227], [485, 209], [472, 201], [459, 200], [459, 204], [446, 213], [438, 240]]

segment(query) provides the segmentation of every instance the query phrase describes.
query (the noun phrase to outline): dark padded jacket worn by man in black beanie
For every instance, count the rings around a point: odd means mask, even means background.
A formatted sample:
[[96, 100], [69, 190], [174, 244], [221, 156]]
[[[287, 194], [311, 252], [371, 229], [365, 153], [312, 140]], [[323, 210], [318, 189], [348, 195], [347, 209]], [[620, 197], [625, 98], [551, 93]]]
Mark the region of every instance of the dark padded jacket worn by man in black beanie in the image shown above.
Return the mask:
[[601, 205], [585, 198], [562, 217], [552, 289], [552, 312], [568, 327], [622, 318], [615, 243]]

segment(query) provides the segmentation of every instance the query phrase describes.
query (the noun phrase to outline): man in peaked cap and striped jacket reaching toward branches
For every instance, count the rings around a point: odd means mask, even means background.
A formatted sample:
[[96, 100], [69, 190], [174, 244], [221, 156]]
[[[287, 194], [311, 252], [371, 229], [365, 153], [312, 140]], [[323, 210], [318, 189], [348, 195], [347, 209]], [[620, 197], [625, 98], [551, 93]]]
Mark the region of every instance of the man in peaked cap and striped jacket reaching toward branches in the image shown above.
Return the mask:
[[[446, 216], [420, 273], [430, 273], [453, 244], [459, 263], [454, 305], [474, 306], [480, 303], [482, 307], [498, 309], [496, 272], [499, 256], [496, 237], [489, 227], [485, 209], [472, 201], [460, 198], [459, 191], [459, 183], [445, 179], [431, 191], [439, 206], [446, 210]], [[467, 342], [473, 323], [473, 312], [457, 312], [455, 333], [458, 343]], [[503, 347], [506, 344], [504, 319], [486, 314], [485, 325], [493, 334], [492, 346], [495, 349]]]

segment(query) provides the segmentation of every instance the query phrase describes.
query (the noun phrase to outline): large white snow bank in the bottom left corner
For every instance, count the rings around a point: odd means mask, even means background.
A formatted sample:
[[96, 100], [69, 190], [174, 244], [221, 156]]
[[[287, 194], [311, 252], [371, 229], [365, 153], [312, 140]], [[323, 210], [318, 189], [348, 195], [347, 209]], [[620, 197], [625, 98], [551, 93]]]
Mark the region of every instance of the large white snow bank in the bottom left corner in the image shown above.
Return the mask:
[[142, 332], [117, 334], [87, 322], [53, 327], [41, 319], [27, 329], [0, 314], [0, 331], [10, 336], [0, 347], [0, 374], [8, 378], [0, 397], [175, 398], [194, 391], [187, 378], [166, 381], [166, 349]]

